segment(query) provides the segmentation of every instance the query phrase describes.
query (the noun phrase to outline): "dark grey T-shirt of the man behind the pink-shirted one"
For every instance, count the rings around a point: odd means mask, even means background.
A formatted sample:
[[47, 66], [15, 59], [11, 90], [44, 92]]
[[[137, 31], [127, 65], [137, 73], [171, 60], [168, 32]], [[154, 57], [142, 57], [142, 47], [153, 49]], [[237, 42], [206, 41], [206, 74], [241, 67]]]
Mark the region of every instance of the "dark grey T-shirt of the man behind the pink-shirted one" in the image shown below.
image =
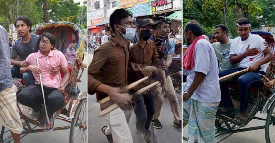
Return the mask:
[[21, 61], [26, 60], [28, 55], [30, 55], [31, 53], [38, 52], [39, 50], [38, 40], [39, 40], [39, 36], [35, 34], [31, 34], [30, 40], [28, 43], [23, 43], [22, 38], [19, 38], [12, 45], [10, 58], [14, 59], [19, 55]]

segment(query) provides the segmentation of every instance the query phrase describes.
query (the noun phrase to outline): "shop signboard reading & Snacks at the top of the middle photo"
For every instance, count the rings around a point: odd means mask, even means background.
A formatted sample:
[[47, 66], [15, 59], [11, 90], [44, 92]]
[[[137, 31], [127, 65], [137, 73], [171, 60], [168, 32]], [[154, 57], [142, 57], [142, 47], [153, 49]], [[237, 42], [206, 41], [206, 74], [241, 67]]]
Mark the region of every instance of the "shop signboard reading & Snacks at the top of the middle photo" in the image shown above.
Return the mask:
[[173, 9], [173, 0], [154, 0], [151, 4], [153, 13]]

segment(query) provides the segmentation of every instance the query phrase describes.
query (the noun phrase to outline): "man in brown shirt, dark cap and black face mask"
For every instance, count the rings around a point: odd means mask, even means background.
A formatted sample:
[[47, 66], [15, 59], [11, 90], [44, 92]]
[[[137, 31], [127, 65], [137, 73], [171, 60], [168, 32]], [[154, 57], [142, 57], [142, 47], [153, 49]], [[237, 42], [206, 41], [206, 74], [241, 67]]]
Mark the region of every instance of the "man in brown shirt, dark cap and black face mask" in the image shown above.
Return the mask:
[[[149, 40], [151, 37], [150, 29], [154, 24], [155, 23], [151, 18], [146, 18], [141, 20], [137, 26], [137, 33], [139, 33], [140, 38], [138, 42], [130, 48], [130, 62], [141, 64], [142, 66], [140, 66], [141, 71], [138, 71], [138, 69], [129, 69], [128, 83], [133, 83], [144, 76], [151, 77], [152, 73], [158, 74], [159, 70], [163, 73], [162, 75], [165, 78], [165, 71], [161, 68], [158, 69], [158, 67], [160, 67], [160, 62], [156, 45], [154, 41]], [[142, 86], [147, 86], [148, 84], [149, 82], [145, 82]], [[134, 91], [139, 88], [140, 87], [134, 89]], [[143, 136], [148, 143], [154, 143], [156, 138], [154, 131], [149, 129], [153, 115], [155, 114], [155, 95], [156, 88], [155, 90], [150, 89], [147, 93], [134, 97], [136, 105], [134, 108], [136, 114], [136, 127], [137, 130], [140, 130], [139, 128], [144, 129]], [[146, 109], [144, 105], [146, 106]]]

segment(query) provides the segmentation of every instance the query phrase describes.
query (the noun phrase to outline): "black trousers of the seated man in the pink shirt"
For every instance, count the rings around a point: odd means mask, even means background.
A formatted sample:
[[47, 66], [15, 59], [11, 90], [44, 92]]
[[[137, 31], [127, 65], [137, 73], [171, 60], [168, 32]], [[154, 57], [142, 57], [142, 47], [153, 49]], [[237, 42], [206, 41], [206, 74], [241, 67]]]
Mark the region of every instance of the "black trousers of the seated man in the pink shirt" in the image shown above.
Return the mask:
[[[59, 110], [64, 102], [64, 95], [56, 88], [43, 86], [47, 113], [49, 118], [55, 111]], [[43, 95], [40, 84], [34, 84], [24, 88], [18, 95], [18, 101], [34, 111], [41, 111], [43, 103]]]

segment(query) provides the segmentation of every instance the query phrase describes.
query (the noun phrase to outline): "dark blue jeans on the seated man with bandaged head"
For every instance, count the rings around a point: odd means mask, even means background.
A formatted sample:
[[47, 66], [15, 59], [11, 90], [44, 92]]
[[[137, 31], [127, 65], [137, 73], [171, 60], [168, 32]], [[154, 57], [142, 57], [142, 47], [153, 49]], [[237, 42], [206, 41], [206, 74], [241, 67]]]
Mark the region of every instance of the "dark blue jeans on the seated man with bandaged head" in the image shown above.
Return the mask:
[[[225, 75], [241, 71], [245, 68], [228, 69], [219, 72], [219, 78]], [[258, 74], [265, 75], [264, 71], [248, 72], [238, 78], [239, 91], [240, 91], [240, 112], [247, 109], [247, 105], [251, 96], [251, 88], [258, 88], [263, 86], [262, 77]], [[220, 81], [221, 90], [221, 105], [225, 108], [233, 107], [231, 97], [228, 90], [228, 81]]]

